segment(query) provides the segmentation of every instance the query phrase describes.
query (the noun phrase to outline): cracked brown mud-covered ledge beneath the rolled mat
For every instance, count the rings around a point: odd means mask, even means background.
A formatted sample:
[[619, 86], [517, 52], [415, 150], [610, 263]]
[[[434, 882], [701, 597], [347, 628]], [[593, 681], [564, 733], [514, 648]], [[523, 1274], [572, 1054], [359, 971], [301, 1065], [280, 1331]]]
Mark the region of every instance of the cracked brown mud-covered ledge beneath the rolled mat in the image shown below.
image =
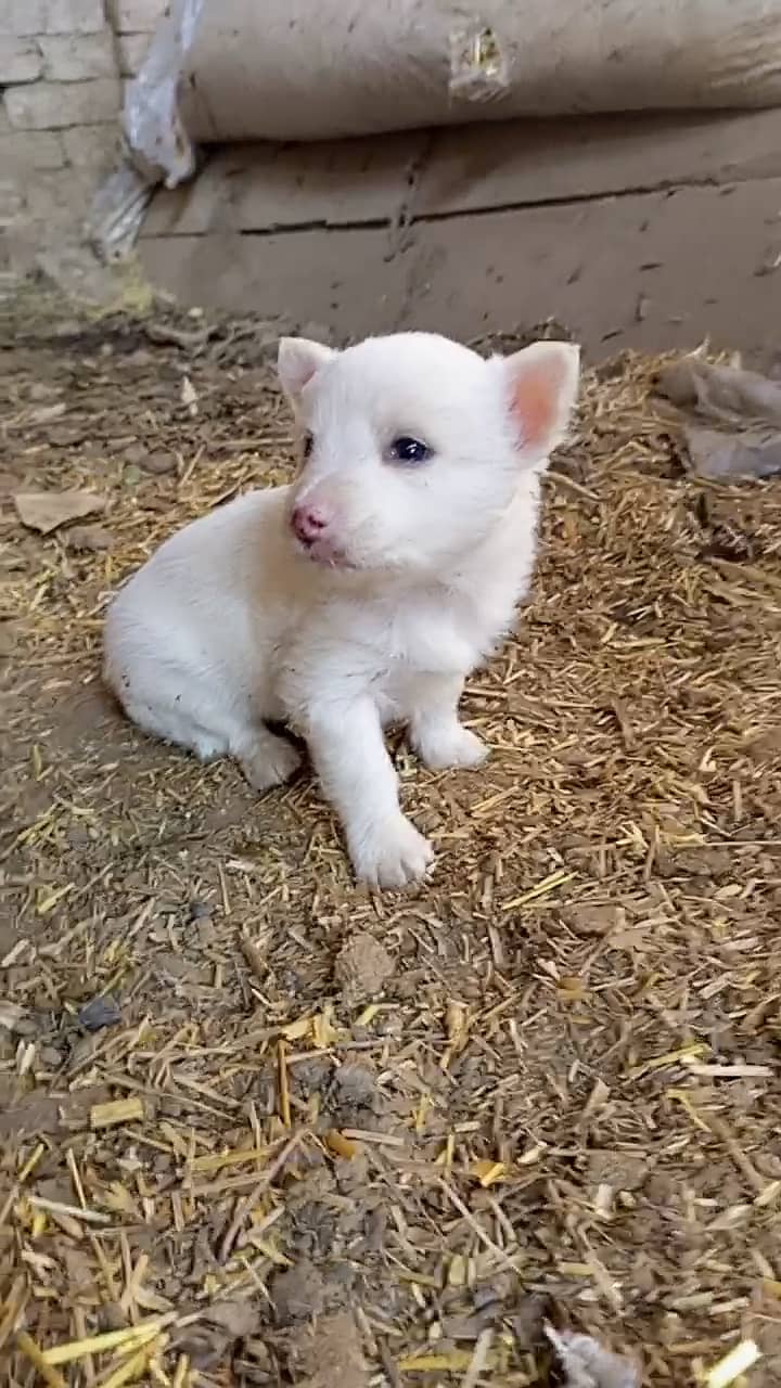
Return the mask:
[[553, 316], [598, 357], [753, 347], [777, 336], [780, 207], [781, 111], [513, 122], [215, 151], [140, 255], [183, 303], [338, 336]]

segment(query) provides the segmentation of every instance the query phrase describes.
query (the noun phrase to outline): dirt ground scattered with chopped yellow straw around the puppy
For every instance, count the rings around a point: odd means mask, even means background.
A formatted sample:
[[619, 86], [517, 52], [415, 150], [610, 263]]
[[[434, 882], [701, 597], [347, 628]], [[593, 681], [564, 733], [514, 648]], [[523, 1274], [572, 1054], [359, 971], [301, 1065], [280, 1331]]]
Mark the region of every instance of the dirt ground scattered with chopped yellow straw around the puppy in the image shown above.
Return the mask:
[[[438, 870], [372, 898], [306, 776], [257, 799], [100, 688], [113, 587], [290, 468], [272, 337], [164, 314], [1, 354], [8, 1382], [46, 1352], [54, 1384], [521, 1388], [557, 1381], [549, 1319], [657, 1388], [753, 1337], [770, 1388], [778, 483], [687, 476], [652, 362], [588, 376], [466, 698], [492, 761], [399, 743]], [[21, 525], [63, 489], [104, 509]]]

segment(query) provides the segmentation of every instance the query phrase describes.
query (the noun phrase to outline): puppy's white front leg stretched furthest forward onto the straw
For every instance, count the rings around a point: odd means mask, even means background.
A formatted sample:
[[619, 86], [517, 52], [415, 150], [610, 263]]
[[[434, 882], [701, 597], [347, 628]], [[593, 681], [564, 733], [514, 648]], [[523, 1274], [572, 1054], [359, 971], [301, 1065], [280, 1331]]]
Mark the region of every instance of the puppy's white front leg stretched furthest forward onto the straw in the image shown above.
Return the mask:
[[425, 877], [434, 851], [399, 808], [399, 783], [371, 700], [318, 709], [307, 725], [311, 758], [342, 820], [356, 876], [372, 887]]

